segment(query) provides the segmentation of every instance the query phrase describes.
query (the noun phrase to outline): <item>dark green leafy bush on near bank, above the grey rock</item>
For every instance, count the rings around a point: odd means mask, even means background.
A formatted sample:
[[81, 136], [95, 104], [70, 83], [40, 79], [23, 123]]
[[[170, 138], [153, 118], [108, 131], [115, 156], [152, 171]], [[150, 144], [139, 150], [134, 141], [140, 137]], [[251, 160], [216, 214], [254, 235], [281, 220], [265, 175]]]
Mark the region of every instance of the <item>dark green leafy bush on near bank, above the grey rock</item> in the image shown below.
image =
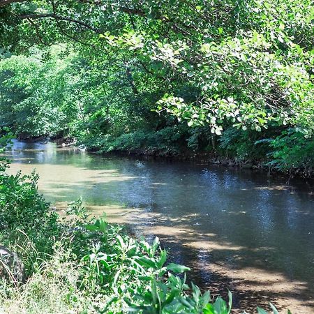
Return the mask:
[[0, 241], [18, 244], [16, 251], [24, 257], [27, 274], [52, 253], [60, 231], [57, 214], [48, 211], [47, 202], [38, 194], [37, 180], [36, 174], [0, 174]]

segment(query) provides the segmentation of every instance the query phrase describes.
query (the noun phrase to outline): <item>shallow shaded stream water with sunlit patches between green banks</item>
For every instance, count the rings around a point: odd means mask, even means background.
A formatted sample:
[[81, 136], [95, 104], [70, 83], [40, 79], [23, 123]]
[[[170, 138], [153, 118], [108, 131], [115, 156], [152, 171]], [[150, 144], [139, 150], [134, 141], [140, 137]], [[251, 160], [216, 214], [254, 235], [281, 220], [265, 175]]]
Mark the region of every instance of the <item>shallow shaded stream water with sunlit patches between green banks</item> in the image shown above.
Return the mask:
[[202, 289], [253, 311], [269, 301], [314, 313], [311, 182], [214, 165], [98, 156], [54, 143], [14, 142], [10, 172], [36, 169], [58, 210], [82, 197], [137, 237], [158, 236]]

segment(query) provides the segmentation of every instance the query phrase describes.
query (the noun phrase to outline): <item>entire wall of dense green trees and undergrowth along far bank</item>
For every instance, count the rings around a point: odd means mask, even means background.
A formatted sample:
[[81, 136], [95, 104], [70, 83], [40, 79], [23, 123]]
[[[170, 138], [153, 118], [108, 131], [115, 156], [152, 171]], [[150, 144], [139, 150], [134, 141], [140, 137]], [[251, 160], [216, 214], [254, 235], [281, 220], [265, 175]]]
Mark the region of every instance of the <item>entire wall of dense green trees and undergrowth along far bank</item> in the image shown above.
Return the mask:
[[209, 151], [310, 173], [312, 4], [0, 1], [0, 123], [102, 151]]

